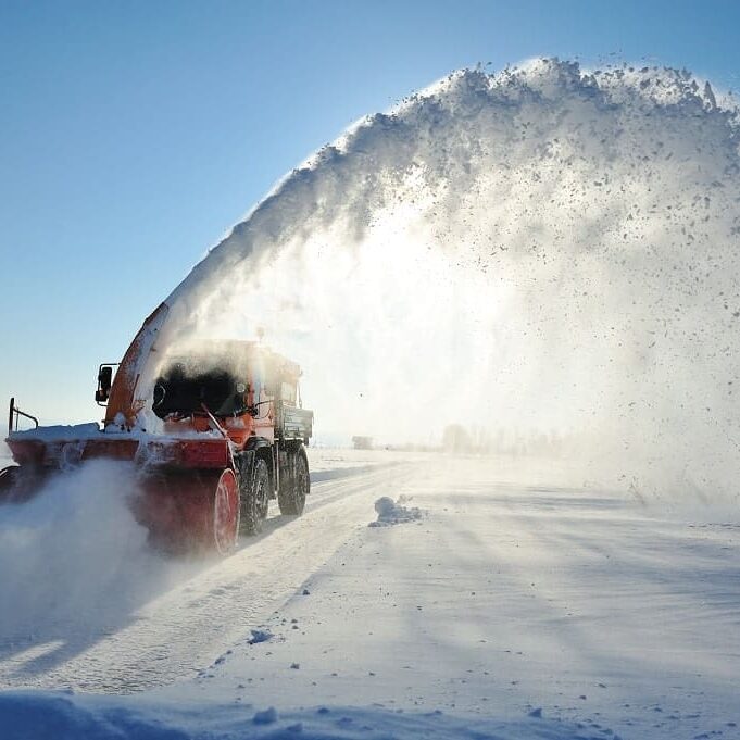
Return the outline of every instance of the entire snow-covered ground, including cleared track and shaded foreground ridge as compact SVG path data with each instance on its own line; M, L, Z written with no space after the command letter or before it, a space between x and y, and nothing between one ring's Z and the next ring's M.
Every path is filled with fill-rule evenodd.
M231 557L139 552L150 591L97 594L126 613L3 636L3 737L740 737L737 511L548 461L312 465L304 516ZM382 496L421 518L367 526Z

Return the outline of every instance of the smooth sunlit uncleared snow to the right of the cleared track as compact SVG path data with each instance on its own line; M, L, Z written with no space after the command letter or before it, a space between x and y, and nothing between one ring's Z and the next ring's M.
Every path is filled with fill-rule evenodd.
M541 710L625 738L740 737L737 513L666 518L559 485L552 465L528 485L519 473L476 460L417 468L397 491L423 520L351 532L309 595L266 623L275 637L242 642L189 695L510 719Z

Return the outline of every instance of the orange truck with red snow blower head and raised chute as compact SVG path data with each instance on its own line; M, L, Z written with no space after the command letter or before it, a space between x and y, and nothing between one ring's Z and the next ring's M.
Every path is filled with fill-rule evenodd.
M134 514L171 551L228 553L240 530L262 529L271 499L281 514L303 512L313 412L301 407L300 367L247 341L161 361L155 342L167 310L163 303L145 322L117 371L100 366L102 428L39 427L11 399L5 441L16 465L0 471L0 503L25 501L54 472L108 459L135 464ZM148 363L156 372L146 385ZM36 428L18 430L21 418Z

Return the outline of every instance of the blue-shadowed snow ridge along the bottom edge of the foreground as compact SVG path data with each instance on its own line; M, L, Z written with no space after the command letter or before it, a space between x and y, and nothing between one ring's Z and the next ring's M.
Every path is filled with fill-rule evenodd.
M443 712L405 713L321 706L277 713L271 707L0 693L3 740L615 740L610 731L581 731L547 717L518 722L460 718Z

